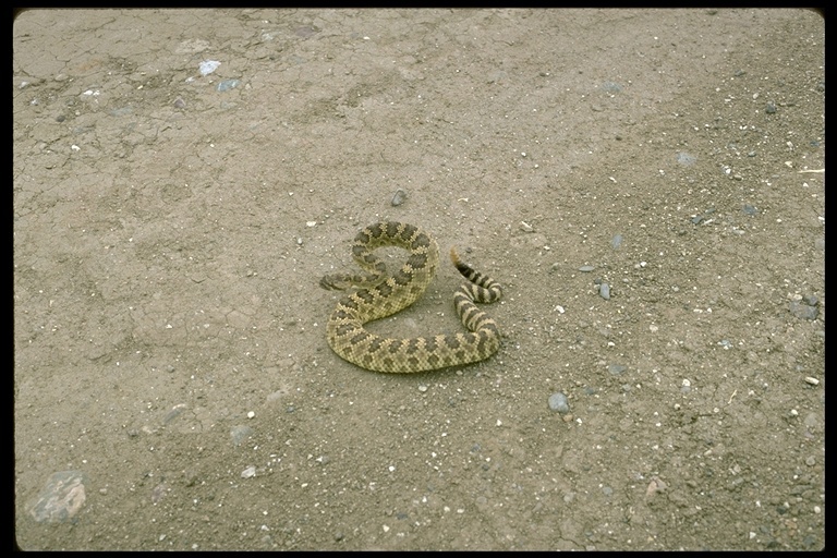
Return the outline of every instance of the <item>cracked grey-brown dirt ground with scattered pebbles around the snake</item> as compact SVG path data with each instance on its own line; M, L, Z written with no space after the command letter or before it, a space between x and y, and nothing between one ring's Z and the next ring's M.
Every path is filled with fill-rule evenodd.
M16 543L822 548L824 39L802 10L19 15ZM498 354L331 352L318 280L380 219L502 283ZM371 329L462 328L459 282Z

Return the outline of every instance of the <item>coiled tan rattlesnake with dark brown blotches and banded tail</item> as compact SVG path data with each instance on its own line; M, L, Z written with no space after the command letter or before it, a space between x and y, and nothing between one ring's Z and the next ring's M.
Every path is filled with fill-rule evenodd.
M384 262L373 254L381 246L405 248L410 257L390 275ZM439 247L426 231L402 222L377 222L357 233L352 255L367 275L327 275L319 281L325 289L357 288L337 303L326 326L328 344L342 359L371 371L409 373L482 361L500 348L497 324L474 301L495 302L502 295L502 289L494 279L461 262L453 248L451 260L469 280L457 290L453 303L469 332L395 339L364 329L365 323L410 306L433 280Z

